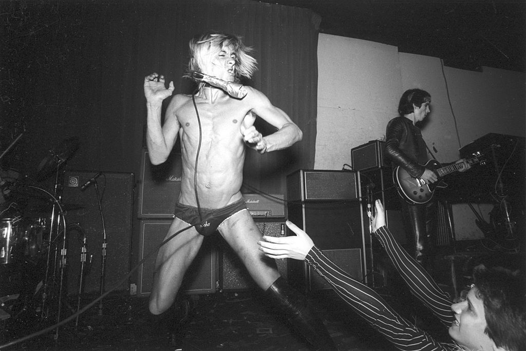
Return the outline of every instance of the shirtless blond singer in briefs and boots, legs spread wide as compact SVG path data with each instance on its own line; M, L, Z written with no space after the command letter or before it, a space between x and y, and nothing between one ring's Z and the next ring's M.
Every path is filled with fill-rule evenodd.
M293 290L276 262L258 250L262 235L240 191L245 147L259 153L281 150L301 140L301 130L262 92L239 84L241 76L250 78L256 70L250 48L239 37L208 33L190 40L189 46L188 76L199 82L199 88L194 95L171 98L162 124L161 105L172 95L174 83L166 88L164 76L157 73L144 80L151 163L165 162L177 137L181 142L181 192L166 238L193 225L159 249L150 312L161 314L174 303L205 236L217 230L292 326L316 349L333 348L305 296ZM256 116L276 132L262 136L254 127Z

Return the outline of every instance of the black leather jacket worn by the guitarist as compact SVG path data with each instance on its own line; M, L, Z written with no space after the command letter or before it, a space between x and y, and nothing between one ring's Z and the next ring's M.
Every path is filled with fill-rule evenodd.
M420 178L426 170L421 166L428 161L426 142L420 128L406 117L396 117L387 123L384 152L393 168L401 166L413 177Z

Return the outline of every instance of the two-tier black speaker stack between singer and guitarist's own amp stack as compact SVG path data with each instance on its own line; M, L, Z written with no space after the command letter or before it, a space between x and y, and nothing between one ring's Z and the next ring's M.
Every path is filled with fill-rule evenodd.
M299 170L287 177L287 211L289 220L305 230L320 250L336 250L348 260L349 274L366 279L359 184L359 173L354 171ZM289 282L300 289L319 285L310 283L305 263L289 262L288 271Z

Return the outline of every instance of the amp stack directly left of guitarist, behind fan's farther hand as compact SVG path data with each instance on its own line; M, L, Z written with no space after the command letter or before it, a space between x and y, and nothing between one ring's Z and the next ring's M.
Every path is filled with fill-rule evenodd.
M371 285L382 287L388 285L390 277L385 265L389 260L377 240L371 240L371 223L367 212L380 199L386 209L386 222L397 241L407 243L403 226L400 200L392 178L391 162L385 157L385 141L372 140L351 149L352 169L360 173L362 191L362 212L365 219L363 227L366 232L366 254L371 267ZM387 268L390 270L390 267Z

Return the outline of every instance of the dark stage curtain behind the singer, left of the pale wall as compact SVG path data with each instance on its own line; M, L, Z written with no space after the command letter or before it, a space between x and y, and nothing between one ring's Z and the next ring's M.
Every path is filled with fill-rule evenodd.
M246 84L264 92L299 125L304 140L260 156L249 150L245 183L285 193L286 175L313 167L320 17L255 1L3 2L2 160L32 173L62 140L79 138L68 169L140 173L146 107L144 76L174 80L188 40L216 30L254 47L259 70ZM258 125L264 133L271 129Z

